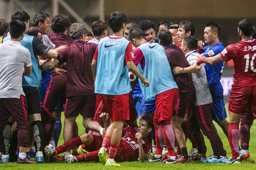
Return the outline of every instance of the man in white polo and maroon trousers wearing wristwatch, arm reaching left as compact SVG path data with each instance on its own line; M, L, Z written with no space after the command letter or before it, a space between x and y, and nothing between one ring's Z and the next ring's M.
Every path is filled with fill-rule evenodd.
M196 51L197 43L198 41L192 36L184 37L181 49L189 62L189 67L176 67L173 72L175 74L192 73L192 81L195 87L195 106L189 125L198 144L198 153L201 153L201 161L210 163L224 162L227 161L227 152L224 150L221 138L212 123L212 96L209 91L205 68L196 64L197 59L200 57L200 54ZM205 155L207 148L201 130L211 142L214 152L214 156L211 159L207 159Z

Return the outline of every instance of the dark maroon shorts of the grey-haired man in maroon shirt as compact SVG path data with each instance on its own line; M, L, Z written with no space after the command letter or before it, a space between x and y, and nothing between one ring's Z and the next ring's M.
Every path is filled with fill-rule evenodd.
M76 117L80 113L83 117L93 118L95 102L95 94L67 97L64 115L65 117Z

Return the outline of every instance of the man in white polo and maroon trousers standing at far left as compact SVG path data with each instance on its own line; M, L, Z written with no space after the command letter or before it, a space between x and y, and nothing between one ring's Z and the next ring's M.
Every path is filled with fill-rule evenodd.
M4 142L6 139L4 139L3 130L11 115L18 129L20 153L17 163L33 163L26 158L29 122L26 98L22 90L22 75L31 73L32 62L29 50L20 44L25 30L24 22L12 20L10 22L11 39L0 45L0 144L3 147L3 163L9 162L9 143Z

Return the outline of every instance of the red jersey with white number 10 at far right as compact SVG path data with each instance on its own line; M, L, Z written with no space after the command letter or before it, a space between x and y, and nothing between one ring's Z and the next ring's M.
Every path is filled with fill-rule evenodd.
M235 86L256 85L256 40L239 41L228 45L221 53L225 62L234 61L234 83Z

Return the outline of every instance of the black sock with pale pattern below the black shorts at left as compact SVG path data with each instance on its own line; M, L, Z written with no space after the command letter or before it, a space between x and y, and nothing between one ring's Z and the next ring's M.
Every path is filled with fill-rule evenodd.
M33 125L33 134L36 143L36 151L44 151L44 127L42 121L35 121Z

